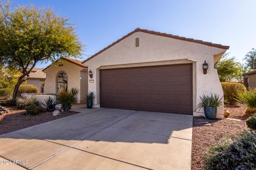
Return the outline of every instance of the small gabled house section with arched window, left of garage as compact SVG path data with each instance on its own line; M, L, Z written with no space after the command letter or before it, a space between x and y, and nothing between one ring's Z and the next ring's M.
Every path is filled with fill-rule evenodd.
M60 90L69 91L76 88L76 102L85 102L85 95L88 93L88 74L87 67L82 61L60 58L43 69L43 72L46 73L44 94L58 94Z

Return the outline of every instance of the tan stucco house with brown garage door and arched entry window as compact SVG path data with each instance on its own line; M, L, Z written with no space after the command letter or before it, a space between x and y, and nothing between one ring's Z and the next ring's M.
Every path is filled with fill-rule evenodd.
M68 88L76 86L84 94L96 95L93 107L204 115L203 109L196 110L199 96L210 92L223 96L214 64L228 48L137 28L87 58L81 63L84 67L69 63L46 68L45 92L57 91L52 83L65 71ZM202 69L205 62L207 73ZM223 109L218 108L217 114L222 118Z

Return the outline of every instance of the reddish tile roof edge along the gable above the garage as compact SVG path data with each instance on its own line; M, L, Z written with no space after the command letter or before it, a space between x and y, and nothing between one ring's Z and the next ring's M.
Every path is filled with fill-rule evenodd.
M123 39L125 39L126 37L129 37L130 35L132 35L135 32L145 32L145 33L150 33L153 35L157 35L157 36L164 36L164 37L169 37L169 38L174 38L174 39L179 39L179 40L184 40L184 41L189 41L192 43L198 43L198 44L203 44L203 45L207 45L207 46L211 46L211 47L217 47L217 48L223 48L223 49L229 49L229 46L223 46L221 44L213 44L210 42L206 42L203 40L198 40L198 39L193 39L193 38L186 38L186 37L180 37L180 36L175 36L172 34L167 34L167 33L163 33L163 32L156 32L156 31L151 31L151 30L145 30L145 29L140 29L137 28L134 31L128 33L126 36L118 39L117 41L115 41L114 43L110 44L109 46L107 46L106 48L103 48L102 50L100 50L98 53L95 53L94 55L92 55L91 57L87 58L85 61L83 61L82 63L85 63L86 61L91 60L91 58L99 55L100 53L102 53L103 51L105 51L106 49L114 46L115 44L119 43L120 41L122 41Z

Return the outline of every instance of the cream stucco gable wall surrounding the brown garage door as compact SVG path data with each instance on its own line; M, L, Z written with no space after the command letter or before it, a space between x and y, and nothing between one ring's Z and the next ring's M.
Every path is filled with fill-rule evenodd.
M139 38L139 47L135 47L135 38ZM94 82L89 82L89 91L95 95L94 107L100 107L99 100L99 70L106 66L127 67L127 64L159 65L168 61L187 60L193 62L194 88L194 115L204 115L203 109L196 111L199 103L199 96L210 92L223 96L223 90L219 81L217 70L214 69L214 55L225 52L225 49L206 46L198 43L191 43L163 36L151 35L144 32L135 32L123 39L116 45L110 47L98 56L84 63L91 69ZM207 74L203 74L202 64L204 61L209 64ZM182 62L181 62L182 63ZM223 117L223 109L218 108L218 117Z

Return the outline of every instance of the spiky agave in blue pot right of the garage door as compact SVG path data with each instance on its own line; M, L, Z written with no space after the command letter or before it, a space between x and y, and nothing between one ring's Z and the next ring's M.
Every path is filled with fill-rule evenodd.
M204 114L206 118L215 119L217 117L217 107L222 107L222 101L219 95L212 94L211 96L200 96L201 102L197 105L197 109L204 107Z

